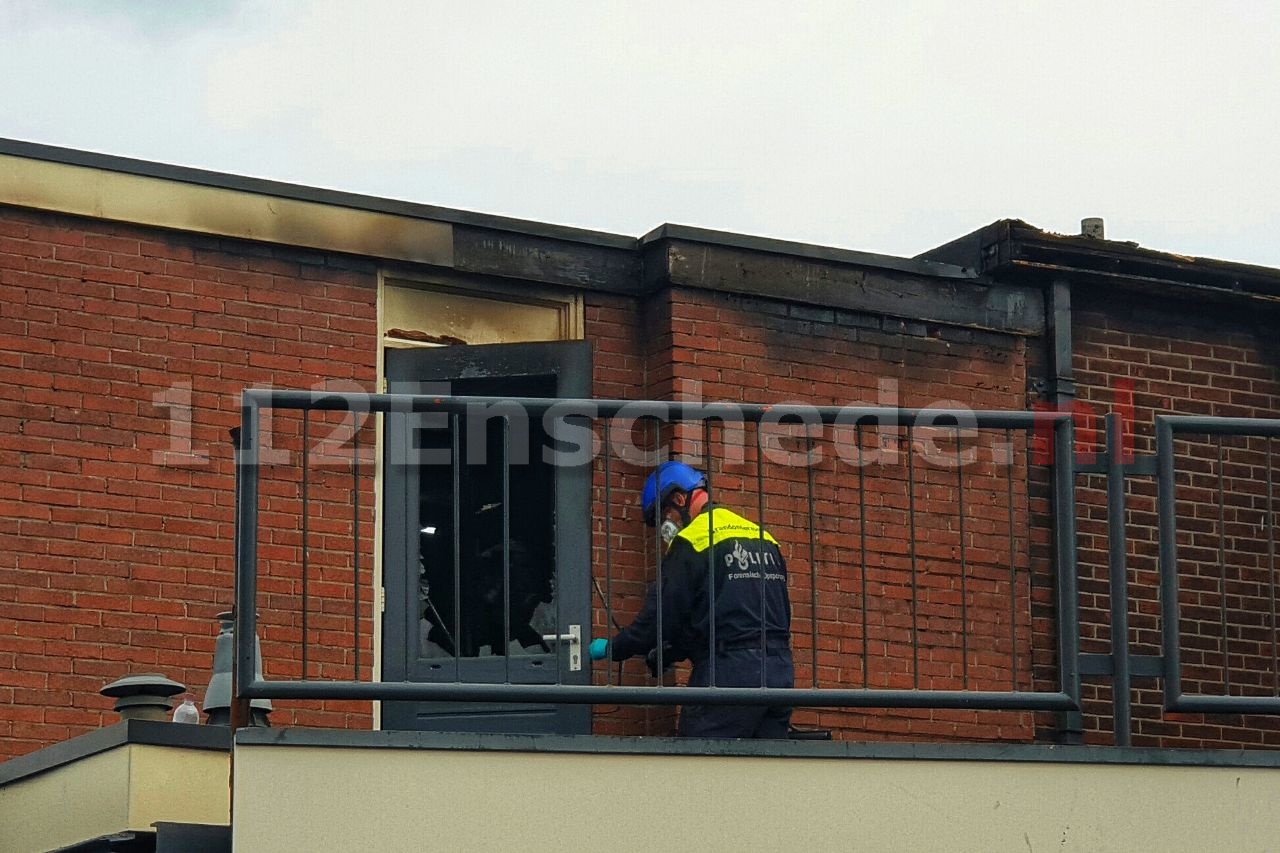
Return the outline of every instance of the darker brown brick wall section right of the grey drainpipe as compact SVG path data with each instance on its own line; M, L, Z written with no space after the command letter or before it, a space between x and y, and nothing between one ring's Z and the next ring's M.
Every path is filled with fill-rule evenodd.
M1100 419L1110 411L1129 418L1138 455L1155 452L1157 414L1275 418L1280 411L1274 316L1087 288L1075 289L1073 304L1078 397ZM1265 514L1268 464L1272 480L1280 482L1277 450L1272 442L1268 456L1257 439L1226 438L1221 451L1208 438L1178 442L1180 648L1188 693L1274 694L1275 587ZM1082 649L1101 653L1110 649L1106 483L1098 475L1080 483ZM1126 496L1132 652L1155 656L1161 625L1153 478L1129 478ZM1280 500L1274 507L1280 508ZM1231 662L1224 666L1228 653ZM1133 684L1137 745L1280 744L1275 717L1164 713L1160 681L1135 678ZM1085 739L1110 743L1110 679L1087 679L1084 695Z

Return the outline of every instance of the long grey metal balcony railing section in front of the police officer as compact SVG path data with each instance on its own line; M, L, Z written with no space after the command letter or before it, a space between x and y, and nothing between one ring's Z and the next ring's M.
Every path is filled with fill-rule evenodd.
M452 459L456 464L452 466L452 485L453 485L453 581L454 589L461 588L461 547L460 547L460 503L458 496L461 493L460 483L460 419L465 412L471 411L474 407L480 407L484 411L485 407L493 403L497 398L490 397L436 397L429 394L349 394L349 393L334 393L334 392L287 392L287 391L269 391L269 389L255 389L244 393L242 405L242 420L243 420L243 434L239 443L241 452L238 453L238 484L242 489L243 498L238 501L237 508L237 553L239 560L237 562L237 617L239 625L237 626L238 640L237 640L237 656L236 665L241 667L238 672L252 672L252 666L246 669L246 657L252 653L252 647L247 644L244 638L252 638L256 629L256 610L253 603L256 602L256 560L257 560L257 493L259 493L259 447L261 444L261 425L259 424L260 410L264 407L276 407L276 409L296 409L303 410L302 418L302 432L303 432L303 446L307 446L307 430L308 430L308 416L310 410L319 411L370 411L370 412L392 412L392 414L407 414L407 412L448 412L449 423L452 426ZM1050 711L1050 710L1078 710L1079 707L1079 674L1076 666L1078 658L1078 602L1075 597L1075 571L1074 571L1074 501L1073 501L1073 484L1071 484L1071 461L1073 461L1073 426L1069 414L1064 412L1009 412L1009 411L940 411L940 410L910 410L910 409L882 409L882 407L809 407L809 406L760 406L760 405L731 405L731 403L717 403L717 405L685 405L678 402L655 402L655 401L611 401L611 400L547 400L547 398L518 398L508 400L503 398L502 402L507 406L522 407L530 415L548 415L548 414L561 414L564 416L581 418L585 411L591 412L595 418L603 419L604 426L604 469L605 469L605 484L604 494L607 507L612 508L612 470L611 470L611 450L608 441L609 438L609 419L612 416L627 415L634 418L645 418L649 420L649 435L652 438L652 446L654 448L659 447L659 421L681 420L682 416L689 415L689 419L701 420L703 425L703 441L705 448L705 456L708 462L712 460L710 451L710 419L718 419L723 424L728 423L751 423L754 424L754 450L755 450L755 484L756 484L756 512L760 519L760 537L764 537L765 529L765 492L764 492L764 471L763 471L763 437L762 437L762 420L764 418L776 418L781 423L786 418L794 415L801 423L809 423L814 416L817 416L820 423L835 424L837 426L852 425L858 444L858 502L859 502L859 542L860 542L860 639L861 639L861 686L858 689L846 688L819 688L818 678L818 587L819 578L817 571L817 524L815 524L815 483L814 483L814 470L812 465L806 466L806 505L808 505L808 517L809 517L809 558L810 558L810 635L813 638L812 643L812 666L813 666L813 688L790 688L790 689L777 689L767 688L767 678L762 671L760 686L759 688L724 688L724 686L709 686L709 688L668 688L663 689L662 680L654 686L627 686L614 685L612 678L608 679L608 684L603 685L604 693L599 693L600 685L582 685L582 684L564 684L563 672L561 670L562 662L561 656L556 656L556 683L554 684L513 684L512 679L512 661L509 651L504 653L503 662L503 684L476 684L476 683L462 683L461 681L461 665L460 658L462 657L457 642L454 642L454 678L453 684L447 683L367 683L361 680L361 666L360 666L360 644L361 644L361 626L360 626L360 551L361 551L361 519L360 519L360 439L358 429L353 433L353 460L352 460L352 492L353 494L353 555L352 555L352 638L355 644L353 651L353 676L351 681L324 681L323 684L311 681L308 684L291 683L291 681L268 681L265 679L248 680L241 679L238 681L238 695L242 698L253 697L301 697L307 698L370 698L370 699L402 699L413 698L420 701L530 701L530 702L563 702L563 703L648 703L648 704L676 704L676 703L689 703L698 702L703 704L754 704L754 703L794 703L800 706L835 706L835 707L936 707L936 708L992 708L992 710L1014 710L1014 711ZM1043 425L1051 425L1053 430L1055 439L1055 456L1053 456L1053 484L1055 484L1055 515L1057 520L1057 548L1056 548L1056 574L1059 576L1059 646L1061 652L1061 688L1056 693L1050 692L1020 692L1016 689L1018 678L1016 672L1012 678L1012 688L1009 692L991 692L991 690L969 690L970 675L969 675L969 639L964 637L961 639L961 683L964 684L963 690L947 690L947 689L927 689L922 690L920 685L923 683L922 678L922 610L920 610L920 596L922 596L922 583L925 580L922 573L925 573L925 566L922 564L922 556L918 548L918 535L919 530L916 528L916 479L918 473L915 470L914 461L914 443L915 433L914 424L922 418L928 418L929 423L938 426L954 426L955 428L955 441L956 441L956 455L957 462L963 457L961 448L961 424L974 424L979 428L1004 428L1006 443L1010 450L1012 447L1012 430L1030 430ZM906 470L906 505L908 505L908 526L909 526L909 565L910 565L910 620L911 620L911 658L913 658L913 674L911 674L911 689L872 689L869 686L869 613L868 613L868 561L867 561L867 542L868 542L868 524L867 524L867 473L863 465L863 426L864 425L877 425L877 426L892 426L899 429L905 429L905 442L908 447L908 470ZM503 598L503 616L502 616L502 637L504 646L509 649L512 643L512 615L511 615L511 601L512 601L512 555L511 555L511 502L512 502L512 487L511 487L511 452L512 452L512 437L511 437L511 416L502 416L502 502L503 502L503 517L502 517L502 539L504 547L502 553L502 598ZM806 453L813 455L813 441L812 435L805 435ZM1011 461L1012 457L1010 457ZM303 514L310 514L310 507L307 505L307 487L310 484L310 475L307 474L307 462L303 462ZM712 473L713 465L707 466L708 476ZM957 465L957 469L960 466ZM1014 537L1014 489L1012 489L1012 474L1007 475L1006 494L1009 501L1009 540L1010 540L1010 639L1011 649L1010 653L1012 660L1016 662L1016 589L1018 589L1018 575L1016 575L1016 551L1015 551L1015 537ZM922 484L922 488L925 488ZM965 629L969 626L968 617L968 542L966 530L964 520L965 508L965 479L963 473L957 473L956 479L956 494L960 503L961 519L960 519L960 625L961 634L965 634ZM406 508L406 517L417 517L412 507ZM713 510L714 512L714 510ZM605 535L607 555L612 553L612 542L608 538L612 534L612 526L609 521L609 511L605 512ZM712 524L714 528L714 521ZM657 556L655 585L658 601L663 601L662 585L663 585L663 571L662 560L664 553L664 543L660 539L660 530L654 528L654 552ZM307 535L303 537L303 560L306 561L306 551L308 546ZM932 557L929 557L932 558ZM710 565L712 553L708 549L708 564L709 569L714 571L714 566ZM605 612L612 624L612 570L613 564L609 557L605 561L608 580L609 580L609 593L607 596ZM763 574L763 565L762 565ZM714 578L714 575L713 575ZM936 579L929 579L928 583L933 585ZM461 624L460 612L460 594L453 596L453 617L454 626ZM712 625L712 643L710 649L716 649L714 638L714 601L708 602L712 608L708 613L709 622ZM559 624L559 607L561 601L556 601L556 613L557 624ZM765 597L764 585L760 584L760 612L765 611ZM306 611L308 608L307 596L303 596L303 620L306 620ZM931 611L932 612L932 611ZM663 637L663 607L657 608L655 615L658 622L658 635ZM931 616L932 619L932 616ZM303 631L303 643L307 642L307 631ZM768 646L768 631L767 625L762 620L760 624L760 649L765 651ZM248 649L248 651L246 651ZM657 654L657 667L658 671L663 671L666 667L666 661L663 656L667 649L659 643ZM716 684L714 676L714 653L710 654L710 666L713 671L710 674L710 684ZM932 678L932 676L931 676ZM308 674L303 671L303 680L308 680ZM301 690L301 693L300 693ZM666 694L666 695L664 695ZM527 697L522 699L521 697ZM663 698L659 698L663 697Z

